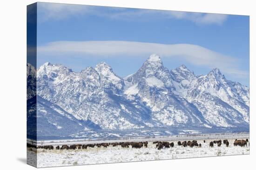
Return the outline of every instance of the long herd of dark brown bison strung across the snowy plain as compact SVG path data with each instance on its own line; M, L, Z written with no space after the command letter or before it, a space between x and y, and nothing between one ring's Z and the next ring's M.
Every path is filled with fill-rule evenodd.
M206 143L205 140L203 140L203 143ZM249 143L249 140L235 140L234 142L234 146L247 146L247 143ZM173 142L167 142L167 141L154 141L153 144L156 144L155 147L158 150L164 149L164 148L170 148L170 147L174 147L174 143ZM222 145L222 140L214 140L211 141L209 143L209 147L214 147L214 144L216 144L218 147L220 147ZM177 142L178 146L183 146L183 147L202 147L201 143L197 143L196 140L192 140L192 141L178 141ZM229 141L227 139L223 140L223 145L226 145L226 147L229 147ZM80 150L80 149L87 149L87 148L108 148L109 146L112 147L116 147L116 146L121 146L122 148L147 148L148 147L148 141L145 142L114 142L114 143L99 143L99 144L87 144L87 145L81 145L81 144L77 144L77 145L62 145L62 146L56 146L55 149L56 150ZM35 145L31 145L31 144L27 144L27 147L29 148L35 148L35 149L46 149L46 150L53 150L54 146L53 145L45 145L45 146L35 146Z

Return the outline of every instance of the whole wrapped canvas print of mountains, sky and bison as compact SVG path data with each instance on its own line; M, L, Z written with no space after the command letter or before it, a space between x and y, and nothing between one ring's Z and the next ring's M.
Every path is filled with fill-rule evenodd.
M249 154L249 16L27 6L27 164Z

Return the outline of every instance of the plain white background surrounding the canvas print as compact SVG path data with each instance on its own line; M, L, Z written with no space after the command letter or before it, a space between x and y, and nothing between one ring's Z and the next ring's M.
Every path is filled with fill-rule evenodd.
M250 15L250 155L58 167L54 170L255 169L256 9L254 0L45 0L101 6ZM26 9L34 0L0 3L0 169L34 169L26 164ZM146 3L145 3L146 2ZM254 78L253 78L254 77ZM254 158L253 158L254 157ZM48 170L49 168L46 168Z

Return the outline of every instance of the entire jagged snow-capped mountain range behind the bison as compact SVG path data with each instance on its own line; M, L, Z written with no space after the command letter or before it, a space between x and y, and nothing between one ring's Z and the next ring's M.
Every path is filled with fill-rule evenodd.
M102 62L79 73L44 63L29 80L36 79L39 136L249 131L249 88L219 69L196 76L184 65L168 70L151 55L124 78Z

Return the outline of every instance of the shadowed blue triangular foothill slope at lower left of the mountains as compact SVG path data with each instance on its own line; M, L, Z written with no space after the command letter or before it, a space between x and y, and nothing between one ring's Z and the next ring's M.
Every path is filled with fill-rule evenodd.
M65 136L81 131L89 131L84 121L79 121L73 115L67 113L61 107L41 98L37 98L37 103L30 103L27 106L27 119L31 120L34 116L33 110L37 106L36 112L36 127L37 136ZM33 118L32 118L33 119ZM33 129L33 126L28 124L28 129ZM30 132L30 130L28 132Z

